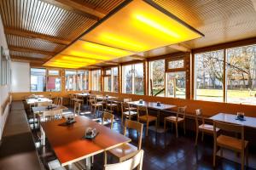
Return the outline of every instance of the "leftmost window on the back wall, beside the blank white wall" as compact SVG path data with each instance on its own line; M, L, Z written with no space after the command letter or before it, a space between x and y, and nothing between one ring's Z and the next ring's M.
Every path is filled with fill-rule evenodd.
M31 92L45 92L46 70L31 68Z

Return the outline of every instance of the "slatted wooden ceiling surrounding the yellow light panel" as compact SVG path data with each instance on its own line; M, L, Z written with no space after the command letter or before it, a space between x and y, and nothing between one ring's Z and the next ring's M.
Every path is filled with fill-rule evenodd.
M183 42L181 45L186 48L256 37L253 0L153 1L205 35L201 39ZM10 53L19 57L48 59L52 56L42 54L42 51L58 54L122 2L124 0L1 0L0 14L9 47L12 47ZM19 51L21 48L25 50ZM34 50L28 53L29 49ZM146 58L177 51L179 49L166 47L138 55ZM134 59L126 57L113 61Z

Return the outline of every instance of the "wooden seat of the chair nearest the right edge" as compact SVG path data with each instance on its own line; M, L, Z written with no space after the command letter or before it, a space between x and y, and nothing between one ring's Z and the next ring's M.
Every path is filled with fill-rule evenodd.
M245 149L248 144L247 140L245 140L244 142L245 142L245 147L243 149ZM224 147L230 150L242 150L241 139L236 139L223 134L218 136L217 144L220 145L221 147Z

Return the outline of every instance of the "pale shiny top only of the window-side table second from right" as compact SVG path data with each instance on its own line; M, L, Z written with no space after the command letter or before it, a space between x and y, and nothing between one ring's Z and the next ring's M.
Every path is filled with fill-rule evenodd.
M128 103L131 105L145 106L145 107L155 109L155 110L160 110L160 111L177 107L177 105L167 105L167 104L160 104L160 106L158 106L157 102L148 102L148 101L143 101L142 104L139 101L131 101Z

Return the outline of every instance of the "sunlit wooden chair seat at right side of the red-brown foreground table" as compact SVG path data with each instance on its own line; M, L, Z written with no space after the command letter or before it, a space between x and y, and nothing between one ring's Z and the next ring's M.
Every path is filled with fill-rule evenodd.
M126 143L126 144L122 144L122 145L115 147L108 151L111 154L113 154L113 156L116 156L119 158L127 156L127 159L128 159L130 156L133 156L133 154L137 153L137 147L135 145Z

